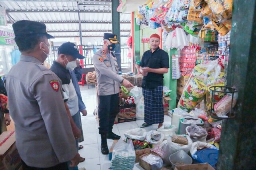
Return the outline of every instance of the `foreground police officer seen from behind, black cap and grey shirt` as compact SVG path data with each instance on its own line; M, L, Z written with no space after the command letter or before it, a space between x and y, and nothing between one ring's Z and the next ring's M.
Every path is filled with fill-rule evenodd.
M44 23L22 20L12 25L22 53L6 76L9 111L24 170L77 166L80 155L62 98L62 82L42 65L50 53Z

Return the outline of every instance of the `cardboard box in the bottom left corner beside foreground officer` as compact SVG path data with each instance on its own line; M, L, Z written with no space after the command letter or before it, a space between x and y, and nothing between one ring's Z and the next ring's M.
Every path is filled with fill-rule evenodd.
M22 169L21 158L15 145L15 132L0 135L0 170Z

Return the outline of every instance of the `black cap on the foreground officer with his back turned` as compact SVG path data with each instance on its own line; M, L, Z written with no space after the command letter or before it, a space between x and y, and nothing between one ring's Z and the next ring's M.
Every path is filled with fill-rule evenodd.
M46 32L46 26L41 22L21 20L12 24L12 28L15 36L45 34L48 39L54 38Z

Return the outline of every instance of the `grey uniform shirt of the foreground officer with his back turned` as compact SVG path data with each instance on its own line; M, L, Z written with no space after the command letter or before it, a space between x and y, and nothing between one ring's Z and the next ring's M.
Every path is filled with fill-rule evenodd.
M58 76L30 56L21 56L6 76L9 111L22 160L46 168L74 158L76 142Z

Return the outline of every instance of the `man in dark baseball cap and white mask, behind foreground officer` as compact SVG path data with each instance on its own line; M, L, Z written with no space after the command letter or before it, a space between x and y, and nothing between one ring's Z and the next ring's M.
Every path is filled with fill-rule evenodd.
M79 54L77 46L74 43L63 43L58 48L58 58L53 62L51 70L60 78L62 81L62 89L64 102L68 115L72 116L73 122L71 126L73 129L79 129L76 131L76 148L78 150L78 138L81 136L81 123L80 123L80 111L78 108L78 97L76 90L72 83L72 76L70 70L74 70L77 67L76 59L84 59L85 57ZM71 169L71 168L69 168ZM74 168L77 169L77 168Z

